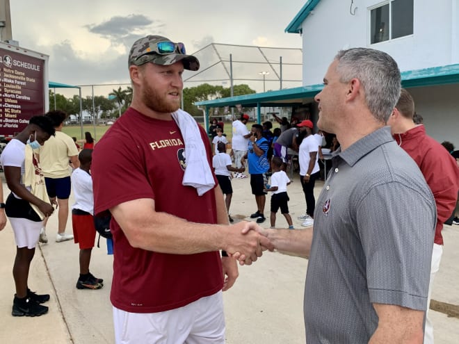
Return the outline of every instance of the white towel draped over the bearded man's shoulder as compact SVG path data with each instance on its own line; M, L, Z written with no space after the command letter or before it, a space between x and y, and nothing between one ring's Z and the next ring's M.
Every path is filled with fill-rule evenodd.
M185 143L186 168L182 184L193 186L198 195L202 196L214 188L215 182L198 123L189 113L181 109L172 113L172 118L179 126Z

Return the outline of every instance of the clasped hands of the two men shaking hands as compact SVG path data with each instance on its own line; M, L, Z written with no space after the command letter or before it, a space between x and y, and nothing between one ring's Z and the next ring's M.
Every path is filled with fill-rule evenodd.
M225 249L227 254L239 261L240 265L250 265L274 245L267 237L267 232L255 222L239 222L231 226L230 244Z

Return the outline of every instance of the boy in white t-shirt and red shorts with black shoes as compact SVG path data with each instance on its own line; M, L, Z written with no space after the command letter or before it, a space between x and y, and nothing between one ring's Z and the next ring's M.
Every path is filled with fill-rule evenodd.
M75 203L72 206L72 227L74 242L80 247L80 277L77 289L100 289L104 286L103 279L94 277L89 272L91 251L94 247L96 230L94 227L94 196L92 195L92 179L90 167L92 149L83 149L78 156L80 167L72 173Z

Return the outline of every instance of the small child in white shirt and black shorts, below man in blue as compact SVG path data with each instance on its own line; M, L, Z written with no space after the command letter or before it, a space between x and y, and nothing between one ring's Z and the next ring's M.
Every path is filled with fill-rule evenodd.
M273 171L271 175L271 187L266 189L266 191L273 193L271 196L271 228L275 228L275 214L280 208L280 212L289 224L289 229L294 229L289 214L289 195L287 195L287 185L291 183L291 180L287 176L287 173L281 170L281 167L282 158L273 156L271 159L271 170Z

